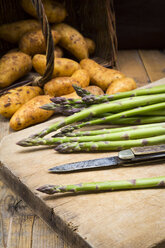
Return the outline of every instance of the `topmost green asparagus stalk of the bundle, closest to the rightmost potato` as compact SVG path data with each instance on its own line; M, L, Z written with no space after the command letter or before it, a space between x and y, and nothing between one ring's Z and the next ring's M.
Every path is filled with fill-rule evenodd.
M114 95L101 95L101 96L87 95L84 96L82 100L86 104L96 104L96 103L103 103L103 102L123 99L127 97L161 94L161 93L165 93L165 85L154 86L152 88L147 88L147 89L137 89L127 92L121 92L121 93L116 93Z

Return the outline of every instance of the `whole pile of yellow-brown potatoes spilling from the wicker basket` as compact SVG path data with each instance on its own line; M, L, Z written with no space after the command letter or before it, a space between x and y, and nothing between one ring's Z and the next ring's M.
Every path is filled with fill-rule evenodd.
M64 22L67 10L62 4L54 0L42 2L55 45L54 71L52 79L43 89L38 86L21 86L0 97L0 114L10 118L10 127L16 131L50 118L54 111L40 107L51 102L52 96L79 98L73 84L95 95L115 94L136 88L132 78L89 59L95 51L95 43ZM31 1L21 0L21 6L33 18L37 17ZM21 80L32 69L41 76L44 74L46 46L40 23L36 19L1 25L0 39L17 47L0 59L0 89ZM75 59L64 58L65 51Z

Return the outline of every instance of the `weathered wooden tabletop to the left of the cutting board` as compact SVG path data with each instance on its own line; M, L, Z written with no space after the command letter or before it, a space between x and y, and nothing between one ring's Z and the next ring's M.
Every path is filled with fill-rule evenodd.
M0 140L12 131L0 116ZM15 195L0 175L0 247L71 248Z

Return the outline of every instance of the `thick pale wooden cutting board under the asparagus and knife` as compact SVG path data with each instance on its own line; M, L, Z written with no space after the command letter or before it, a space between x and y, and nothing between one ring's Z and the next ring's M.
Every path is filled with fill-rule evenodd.
M159 80L157 83L164 83ZM151 84L150 84L151 85ZM58 120L59 118L56 118ZM55 120L6 136L0 145L0 173L7 185L73 247L149 248L165 240L164 189L47 196L44 184L133 179L165 175L165 164L112 170L50 174L48 168L116 153L58 154L44 147L22 148L16 142Z

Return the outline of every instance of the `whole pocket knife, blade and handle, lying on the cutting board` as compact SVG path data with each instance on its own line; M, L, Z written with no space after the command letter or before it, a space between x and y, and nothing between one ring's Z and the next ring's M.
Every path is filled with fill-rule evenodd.
M49 169L51 173L66 173L81 170L136 166L165 160L165 145L134 147L123 150L118 156L67 163Z

